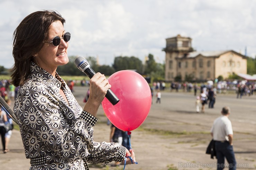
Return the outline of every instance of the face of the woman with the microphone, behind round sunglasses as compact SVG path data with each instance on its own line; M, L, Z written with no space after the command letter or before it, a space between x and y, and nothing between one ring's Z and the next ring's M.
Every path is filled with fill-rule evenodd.
M51 42L56 36L63 37L65 32L61 21L53 22L49 29L49 37L46 41ZM68 63L67 47L68 42L65 42L63 39L61 39L58 46L46 42L42 49L36 54L35 63L50 74L55 74L57 66Z

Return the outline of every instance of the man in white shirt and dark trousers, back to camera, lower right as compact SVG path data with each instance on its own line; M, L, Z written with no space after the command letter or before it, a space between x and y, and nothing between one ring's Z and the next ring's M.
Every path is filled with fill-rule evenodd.
M211 135L215 141L215 150L217 156L217 170L225 168L225 157L229 163L229 170L236 169L236 159L233 150L233 130L228 116L230 108L223 107L222 116L213 122ZM226 166L227 167L227 166Z

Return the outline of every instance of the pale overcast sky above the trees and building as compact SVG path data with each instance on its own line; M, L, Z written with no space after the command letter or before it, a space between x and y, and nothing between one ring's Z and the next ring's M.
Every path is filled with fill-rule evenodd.
M256 55L255 0L0 0L0 66L13 63L13 31L28 14L56 10L71 33L68 56L117 56L163 63L166 38L192 38L197 51L234 50Z

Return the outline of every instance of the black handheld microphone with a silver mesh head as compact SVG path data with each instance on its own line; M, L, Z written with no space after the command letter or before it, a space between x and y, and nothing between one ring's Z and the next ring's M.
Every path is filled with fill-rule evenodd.
M75 65L76 67L81 70L82 72L84 72L90 79L94 76L94 74L96 74L93 69L90 67L90 64L88 63L88 61L83 58L83 57L77 57L75 59ZM107 94L105 96L111 104L115 105L119 102L118 97L116 96L115 93L113 93L113 91L111 89L108 89Z

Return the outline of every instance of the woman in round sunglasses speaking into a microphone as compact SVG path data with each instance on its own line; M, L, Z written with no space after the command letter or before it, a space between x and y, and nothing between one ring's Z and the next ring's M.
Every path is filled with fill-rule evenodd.
M14 112L30 170L87 170L87 163L124 164L126 156L135 161L132 150L93 141L95 116L111 87L106 77L101 73L92 77L90 97L82 109L57 74L57 66L68 63L70 33L64 23L55 11L37 11L25 17L13 34L12 83L20 86Z

